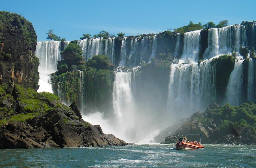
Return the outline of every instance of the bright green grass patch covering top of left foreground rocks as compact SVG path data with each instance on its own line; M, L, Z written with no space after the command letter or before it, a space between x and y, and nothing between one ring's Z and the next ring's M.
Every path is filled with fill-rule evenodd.
M57 107L65 108L63 104L59 103L58 96L54 94L38 93L34 89L17 84L13 89L12 94L7 94L8 89L0 85L0 125L6 124L8 121L25 122L37 115L56 110Z

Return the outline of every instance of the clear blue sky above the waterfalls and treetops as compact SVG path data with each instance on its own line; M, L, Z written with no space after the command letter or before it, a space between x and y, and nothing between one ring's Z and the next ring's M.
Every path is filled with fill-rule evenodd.
M32 22L38 41L45 33L66 40L101 30L126 36L159 33L208 21L227 19L229 25L256 20L256 0L0 0L0 10L21 14Z

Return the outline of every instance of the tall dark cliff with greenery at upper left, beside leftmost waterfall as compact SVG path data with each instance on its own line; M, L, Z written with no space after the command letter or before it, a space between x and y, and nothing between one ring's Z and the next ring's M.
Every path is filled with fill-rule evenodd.
M0 84L38 89L37 35L24 17L0 12Z

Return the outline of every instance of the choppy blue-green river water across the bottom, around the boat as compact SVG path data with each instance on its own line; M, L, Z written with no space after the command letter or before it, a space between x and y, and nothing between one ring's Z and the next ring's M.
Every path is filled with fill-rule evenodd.
M0 150L0 167L256 167L256 146L205 145L203 150L174 144L98 148Z

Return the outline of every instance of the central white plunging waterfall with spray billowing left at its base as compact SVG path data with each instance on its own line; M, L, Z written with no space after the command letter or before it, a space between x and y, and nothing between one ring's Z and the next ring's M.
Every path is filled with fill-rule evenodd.
M132 94L133 72L115 72L114 90L113 90L113 108L114 117L104 119L103 114L95 112L84 118L92 124L100 124L104 132L112 133L115 136L131 141L129 129L134 127L134 98ZM98 118L95 121L95 117Z

